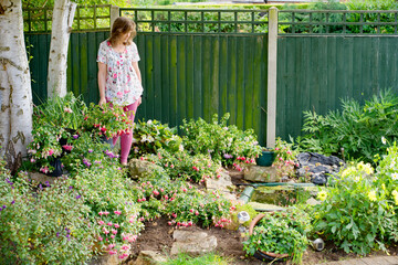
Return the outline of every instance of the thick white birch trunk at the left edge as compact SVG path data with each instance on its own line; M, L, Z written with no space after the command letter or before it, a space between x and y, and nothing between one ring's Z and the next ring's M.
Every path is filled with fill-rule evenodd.
M32 131L32 91L21 0L0 0L0 156L11 171L27 155Z

